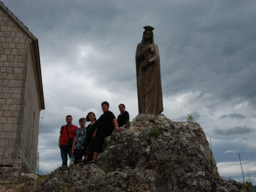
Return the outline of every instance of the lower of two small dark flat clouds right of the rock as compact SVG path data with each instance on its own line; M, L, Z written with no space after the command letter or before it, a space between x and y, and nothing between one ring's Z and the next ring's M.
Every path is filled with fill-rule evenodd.
M254 130L250 129L249 127L247 126L244 126L244 127L241 127L241 126L236 126L236 127L229 127L227 129L219 129L219 128L216 128L213 130L213 132L216 134L216 135L224 135L224 136L230 136L230 135L236 135L236 134L250 134L250 133L253 133Z

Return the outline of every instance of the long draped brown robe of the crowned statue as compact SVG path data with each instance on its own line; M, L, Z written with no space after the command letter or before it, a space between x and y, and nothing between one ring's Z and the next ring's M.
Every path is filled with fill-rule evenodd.
M141 51L146 47L153 48L148 59L153 60L142 70L145 58ZM163 112L163 98L160 72L160 57L158 46L154 44L138 44L136 50L136 73L139 113L161 114Z

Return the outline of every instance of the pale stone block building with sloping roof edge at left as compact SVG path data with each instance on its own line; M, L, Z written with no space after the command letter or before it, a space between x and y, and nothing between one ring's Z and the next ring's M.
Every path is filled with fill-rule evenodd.
M36 173L44 109L38 40L0 1L0 183Z

